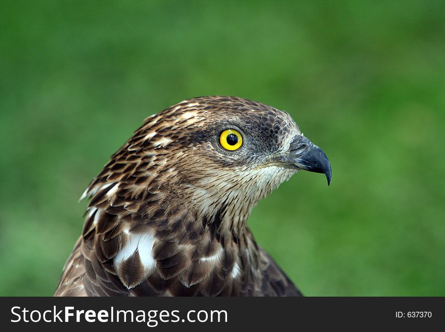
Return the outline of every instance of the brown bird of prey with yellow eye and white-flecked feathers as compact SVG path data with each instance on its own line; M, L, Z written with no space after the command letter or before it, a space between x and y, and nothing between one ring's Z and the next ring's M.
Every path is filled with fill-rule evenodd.
M247 226L299 170L331 166L289 114L224 96L150 116L90 183L55 296L301 296Z

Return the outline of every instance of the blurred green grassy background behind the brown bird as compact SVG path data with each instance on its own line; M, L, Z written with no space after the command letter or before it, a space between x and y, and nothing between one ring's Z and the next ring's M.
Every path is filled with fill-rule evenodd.
M50 296L90 180L142 120L228 94L333 169L249 220L307 296L445 296L445 2L2 1L0 295Z

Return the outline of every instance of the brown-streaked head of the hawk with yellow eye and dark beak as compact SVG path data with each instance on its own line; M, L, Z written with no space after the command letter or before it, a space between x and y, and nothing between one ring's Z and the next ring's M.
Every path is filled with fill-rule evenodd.
M289 114L241 98L200 97L147 118L87 194L112 182L111 205L125 201L148 217L160 207L166 215L193 210L239 231L253 206L299 170L324 173L330 183L328 158Z

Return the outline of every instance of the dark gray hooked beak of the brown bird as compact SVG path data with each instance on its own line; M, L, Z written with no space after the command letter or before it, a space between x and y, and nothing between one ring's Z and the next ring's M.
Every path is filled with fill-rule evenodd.
M289 148L288 162L299 169L326 175L328 185L331 183L331 164L328 157L318 146L304 136L297 135Z

